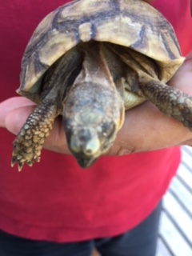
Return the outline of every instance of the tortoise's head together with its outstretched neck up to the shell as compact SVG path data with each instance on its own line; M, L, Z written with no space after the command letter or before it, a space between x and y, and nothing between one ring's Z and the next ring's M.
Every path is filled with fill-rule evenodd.
M124 121L124 104L97 44L85 50L62 116L68 146L82 168L113 145Z

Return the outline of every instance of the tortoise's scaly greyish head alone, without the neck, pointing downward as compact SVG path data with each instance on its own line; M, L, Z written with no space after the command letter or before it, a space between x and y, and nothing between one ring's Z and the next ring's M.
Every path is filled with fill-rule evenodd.
M114 87L82 82L67 95L63 125L70 151L87 168L114 143L124 121L122 98Z

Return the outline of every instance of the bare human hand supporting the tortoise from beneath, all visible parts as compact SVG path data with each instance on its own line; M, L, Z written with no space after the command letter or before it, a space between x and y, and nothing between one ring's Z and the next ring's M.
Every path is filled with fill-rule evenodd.
M192 53L170 80L169 85L192 95L191 83ZM0 126L18 134L34 106L34 103L26 98L7 99L0 104ZM70 154L61 121L61 117L55 120L54 129L46 138L44 148ZM145 102L126 111L125 123L108 154L130 154L184 144L192 145L192 132L174 119L167 118L152 103Z

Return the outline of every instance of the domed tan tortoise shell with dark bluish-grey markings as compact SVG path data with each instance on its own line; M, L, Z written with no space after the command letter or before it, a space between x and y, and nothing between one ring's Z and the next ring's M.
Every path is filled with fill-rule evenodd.
M18 93L35 101L42 75L79 42L111 42L153 58L167 82L184 61L173 28L142 0L76 0L42 20L22 58Z

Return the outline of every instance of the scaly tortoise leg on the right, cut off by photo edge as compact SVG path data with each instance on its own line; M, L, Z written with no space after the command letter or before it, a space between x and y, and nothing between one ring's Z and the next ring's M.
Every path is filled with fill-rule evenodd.
M164 114L192 130L192 97L158 80L140 84L142 93Z

